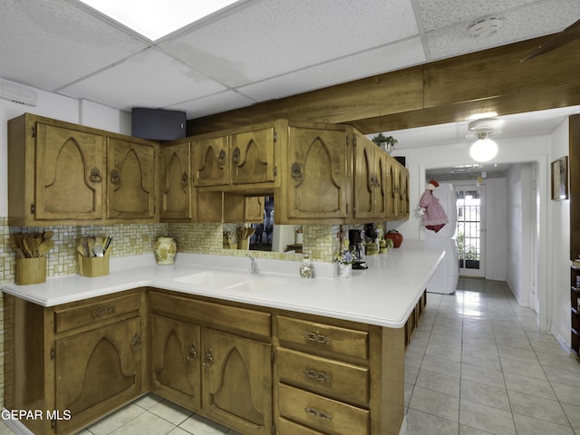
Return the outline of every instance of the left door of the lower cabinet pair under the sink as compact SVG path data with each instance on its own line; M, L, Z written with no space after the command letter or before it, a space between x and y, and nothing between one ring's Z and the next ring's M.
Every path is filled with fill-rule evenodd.
M201 407L199 326L150 316L150 389L190 410Z

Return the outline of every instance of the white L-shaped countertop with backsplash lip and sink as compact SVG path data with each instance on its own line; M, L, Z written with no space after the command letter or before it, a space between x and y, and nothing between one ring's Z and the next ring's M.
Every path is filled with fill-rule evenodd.
M369 268L353 270L351 278L330 277L335 265L314 262L314 279L304 279L298 275L300 262L258 259L260 274L251 275L249 259L245 257L178 254L175 265L158 266L151 254L113 258L111 274L107 276L67 275L48 278L37 285L4 285L3 291L34 304L53 306L151 286L400 328L443 256L440 249L424 247L417 240L406 240L390 254L367 256ZM215 271L219 276L235 274L247 284L222 288L179 281L184 276L207 271Z

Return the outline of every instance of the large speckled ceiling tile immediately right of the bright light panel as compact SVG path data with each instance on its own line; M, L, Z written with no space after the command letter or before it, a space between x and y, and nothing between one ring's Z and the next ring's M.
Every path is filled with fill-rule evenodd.
M268 0L160 43L230 87L418 34L408 0Z

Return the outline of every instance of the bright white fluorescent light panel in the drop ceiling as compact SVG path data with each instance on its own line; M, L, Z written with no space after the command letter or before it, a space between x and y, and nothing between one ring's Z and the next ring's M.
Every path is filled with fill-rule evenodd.
M213 14L237 0L81 0L151 41Z

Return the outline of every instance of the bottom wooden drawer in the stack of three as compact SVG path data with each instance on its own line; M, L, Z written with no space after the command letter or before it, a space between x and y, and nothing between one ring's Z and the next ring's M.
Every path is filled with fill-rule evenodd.
M335 435L368 435L369 411L280 384L280 416ZM307 433L307 432L306 432Z

